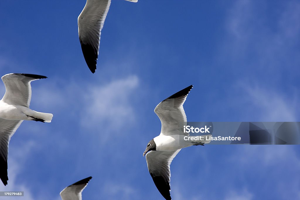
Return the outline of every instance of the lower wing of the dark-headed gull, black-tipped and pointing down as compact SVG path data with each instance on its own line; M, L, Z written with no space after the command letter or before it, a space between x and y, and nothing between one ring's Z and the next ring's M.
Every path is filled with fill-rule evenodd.
M147 166L153 182L161 195L167 200L171 199L170 164L180 150L149 151L146 154Z

